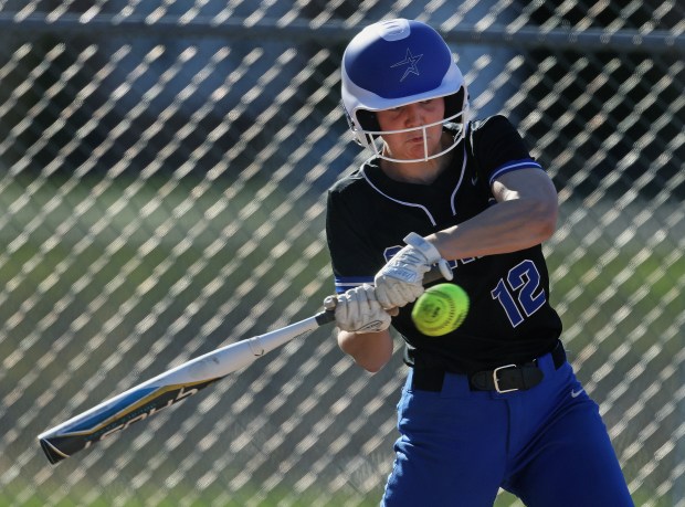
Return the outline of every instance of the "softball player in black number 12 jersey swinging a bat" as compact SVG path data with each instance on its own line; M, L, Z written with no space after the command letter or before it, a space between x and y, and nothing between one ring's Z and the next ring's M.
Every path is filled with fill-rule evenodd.
M338 344L377 371L392 324L411 367L382 505L485 506L499 487L529 506L632 505L559 341L540 245L556 226L550 178L505 117L468 118L462 73L426 24L366 28L341 73L351 130L372 156L328 193ZM445 260L471 310L426 337L411 307Z

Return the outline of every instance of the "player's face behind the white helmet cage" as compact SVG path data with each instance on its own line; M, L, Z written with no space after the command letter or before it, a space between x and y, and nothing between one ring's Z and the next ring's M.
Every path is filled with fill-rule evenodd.
M382 136L386 155L396 159L415 160L438 154L441 150L444 115L445 102L442 97L377 112L381 130L404 130ZM432 126L421 128L425 125Z

